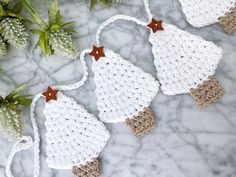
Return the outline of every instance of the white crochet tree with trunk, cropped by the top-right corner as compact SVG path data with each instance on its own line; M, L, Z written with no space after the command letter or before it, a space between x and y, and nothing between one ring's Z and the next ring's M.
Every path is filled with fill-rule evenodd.
M236 0L179 0L188 22L203 27L219 22L224 30L236 30Z

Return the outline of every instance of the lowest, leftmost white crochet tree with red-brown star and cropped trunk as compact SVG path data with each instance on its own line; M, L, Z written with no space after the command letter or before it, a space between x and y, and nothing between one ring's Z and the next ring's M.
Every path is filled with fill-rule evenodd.
M73 169L76 177L99 176L95 159L109 139L104 124L59 91L50 88L43 95L47 98L43 112L46 116L48 166Z

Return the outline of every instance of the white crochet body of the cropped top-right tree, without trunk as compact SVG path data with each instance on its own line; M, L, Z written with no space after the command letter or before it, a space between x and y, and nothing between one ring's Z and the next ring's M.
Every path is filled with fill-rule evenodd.
M234 7L236 0L179 0L188 22L203 27L218 22L219 17Z

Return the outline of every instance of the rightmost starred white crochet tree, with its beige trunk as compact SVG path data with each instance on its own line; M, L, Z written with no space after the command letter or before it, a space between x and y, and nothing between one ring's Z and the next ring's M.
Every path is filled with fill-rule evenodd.
M222 57L222 49L176 26L161 21L158 24L163 29L154 32L151 28L149 40L163 92L167 95L190 92L199 106L218 100L224 90L212 76Z

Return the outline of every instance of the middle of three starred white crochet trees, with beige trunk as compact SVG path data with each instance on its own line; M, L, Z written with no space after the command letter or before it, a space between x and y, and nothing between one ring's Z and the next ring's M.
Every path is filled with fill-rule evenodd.
M126 121L136 136L150 132L155 121L148 107L159 83L111 50L94 46L90 55L96 59L92 70L100 119L107 123Z

